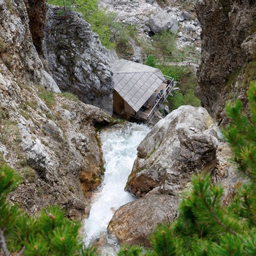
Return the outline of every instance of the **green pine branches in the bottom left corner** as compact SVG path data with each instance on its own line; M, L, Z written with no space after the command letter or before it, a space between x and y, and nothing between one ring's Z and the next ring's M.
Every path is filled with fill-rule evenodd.
M49 206L38 218L13 206L7 196L19 182L15 171L1 162L0 248L4 255L97 255L94 248L83 246L78 233L80 224L65 218L59 206Z

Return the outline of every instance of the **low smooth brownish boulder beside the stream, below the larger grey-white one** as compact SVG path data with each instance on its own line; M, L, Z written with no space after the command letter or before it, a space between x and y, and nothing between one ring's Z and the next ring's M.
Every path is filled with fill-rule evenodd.
M120 244L149 246L148 237L159 223L177 217L179 199L170 195L151 195L118 208L108 225Z

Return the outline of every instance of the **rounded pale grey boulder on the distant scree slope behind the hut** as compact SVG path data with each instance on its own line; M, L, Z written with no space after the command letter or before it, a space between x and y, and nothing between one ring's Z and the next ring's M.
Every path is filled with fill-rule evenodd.
M178 21L168 12L154 12L149 18L149 26L154 33L170 30L173 34L178 32Z

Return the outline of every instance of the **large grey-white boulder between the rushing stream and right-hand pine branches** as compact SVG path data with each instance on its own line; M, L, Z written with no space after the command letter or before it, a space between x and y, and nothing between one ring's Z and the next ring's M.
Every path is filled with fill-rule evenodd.
M217 165L218 135L205 108L181 106L160 120L138 146L126 190L143 197L156 187L177 195L192 173Z

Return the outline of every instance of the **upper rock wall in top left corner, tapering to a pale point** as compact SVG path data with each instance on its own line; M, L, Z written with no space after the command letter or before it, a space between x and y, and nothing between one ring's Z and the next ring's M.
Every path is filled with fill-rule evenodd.
M18 83L41 84L60 92L53 79L49 79L33 45L24 1L0 1L0 17L1 74Z

